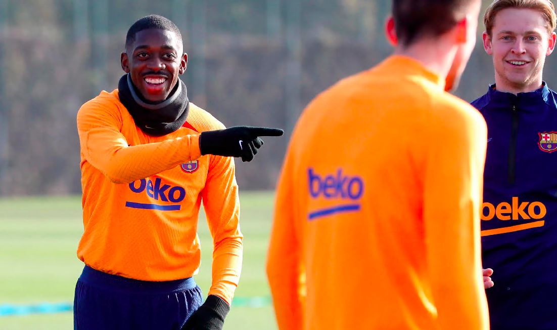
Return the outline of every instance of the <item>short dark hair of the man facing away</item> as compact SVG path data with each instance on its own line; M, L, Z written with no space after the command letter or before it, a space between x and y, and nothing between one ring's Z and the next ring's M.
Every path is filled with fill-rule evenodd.
M437 37L461 20L477 0L393 0L398 41L409 46L423 36Z

